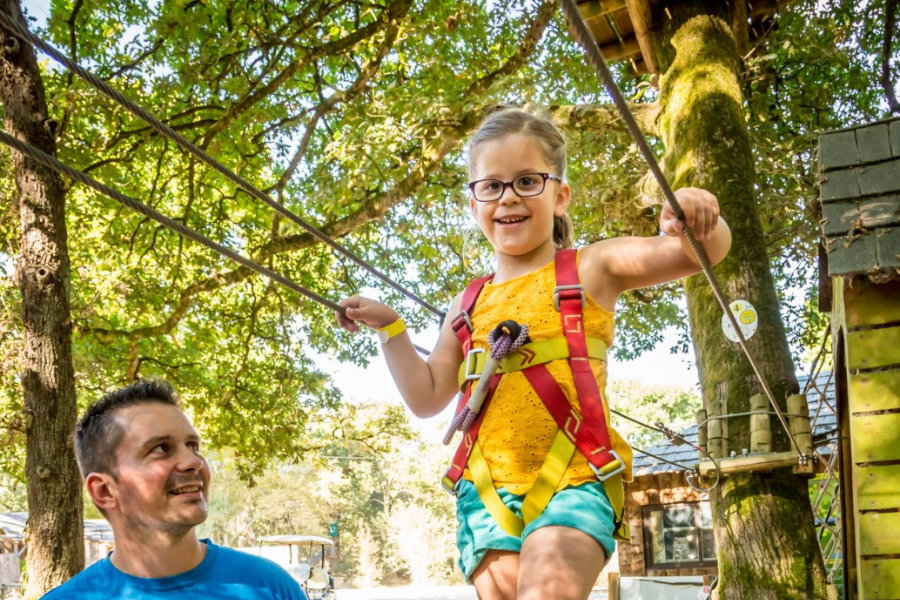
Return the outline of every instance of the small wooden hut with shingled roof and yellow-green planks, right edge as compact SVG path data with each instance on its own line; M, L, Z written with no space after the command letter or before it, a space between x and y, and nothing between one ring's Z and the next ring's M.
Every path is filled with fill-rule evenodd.
M900 119L819 137L848 599L900 598Z

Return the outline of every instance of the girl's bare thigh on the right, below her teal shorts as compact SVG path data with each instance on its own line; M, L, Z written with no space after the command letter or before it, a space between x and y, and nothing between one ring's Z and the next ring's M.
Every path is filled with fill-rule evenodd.
M525 538L519 555L517 600L587 600L606 553L571 527L542 527Z

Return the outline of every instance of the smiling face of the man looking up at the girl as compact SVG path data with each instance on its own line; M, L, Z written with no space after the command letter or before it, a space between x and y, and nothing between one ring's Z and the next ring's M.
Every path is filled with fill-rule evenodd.
M206 520L209 464L200 436L175 406L151 402L119 410L124 436L115 450L110 516L118 513L131 535L186 535Z

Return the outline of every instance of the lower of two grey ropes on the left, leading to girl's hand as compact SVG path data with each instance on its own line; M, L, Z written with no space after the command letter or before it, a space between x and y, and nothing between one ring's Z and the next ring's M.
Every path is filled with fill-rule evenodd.
M0 142L6 144L10 148L18 150L25 156L28 156L32 160L44 165L48 169L52 169L52 170L56 171L57 173L61 173L62 175L65 175L69 179L72 179L72 180L82 183L90 188L93 188L94 190L100 192L101 194L103 194L105 196L108 196L109 198L112 198L113 200L134 210L135 212L139 212L142 215L149 217L150 219L153 219L160 225L171 229L172 231L178 233L179 235L181 235L184 238L187 238L189 240L193 240L195 242L203 244L207 248L221 254L222 256L224 256L226 258L233 260L234 262L250 269L251 271L255 271L256 273L259 273L260 275L263 275L264 277L268 277L272 281L280 283L284 287L286 287L290 290L293 290L293 291L297 292L298 294L301 294L301 295L309 298L310 300L318 302L319 304L322 304L323 306L326 306L338 313L341 313L341 314L346 313L347 309L344 308L343 306L340 306L339 304L332 302L328 298L325 298L324 296L321 296L321 295L313 292L312 290L303 287L302 285L292 281L291 279L288 279L287 277L285 277L284 275L282 275L280 273L276 273L275 271L273 271L267 267L264 267L263 265L260 265L257 262L250 260L249 258L241 256L234 250L231 250L230 248L226 248L222 244L220 244L218 242L214 242L213 240L209 239L208 237L197 233L193 229L185 227L178 221L174 221L174 220L170 219L169 217L165 216L164 214L156 211L153 208L150 208L146 204L143 204L139 200L136 200L130 196L126 196L125 194L123 194L117 190L114 190L105 184L100 183L99 181L97 181L96 179L87 175L86 173L83 173L83 172L79 171L78 169L70 167L69 165L65 164L64 162L61 162L59 159L57 159L53 156L50 156L43 150L40 150L39 148L35 148L34 146L27 144L27 143L17 139L16 137L11 136L9 133L7 133L3 130L0 130ZM419 346L416 346L415 344L413 344L413 346L415 346L416 350L418 350L422 354L425 354L425 355L429 354L428 350L421 348Z

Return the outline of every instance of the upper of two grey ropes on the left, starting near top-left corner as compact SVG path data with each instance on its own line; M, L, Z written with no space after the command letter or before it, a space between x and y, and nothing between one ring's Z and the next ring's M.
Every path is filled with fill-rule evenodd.
M434 307L433 305L431 305L427 301L423 300L422 298L420 298L413 292L409 291L408 289L406 289L399 283L395 282L393 279L391 279L390 277L388 277L387 275L385 275L384 273L382 273L381 271L379 271L378 269L376 269L375 267L373 267L372 265L370 265L369 263L364 261L362 258L356 256L355 254L353 254L352 252L350 252L349 250L347 250L346 248L344 248L343 246L341 246L340 244L335 242L328 234L324 233L323 231L316 228L314 225L307 222L305 219L303 219L296 213L291 212L290 210L285 208L283 205L281 205L278 202L276 202L275 200L273 200L271 196L269 196L265 192L260 191L249 181L247 181L240 175L237 175L232 170L230 170L228 167L226 167L225 165L220 163L218 160L216 160L215 158L213 158L212 156L210 156L209 154L207 154L206 152L204 152L203 150L201 150L200 148L198 148L197 146L192 144L190 141L188 141L187 138L182 136L180 133L178 133L177 131L175 131L174 129L172 129L171 127L166 125L165 123L161 122L159 119L157 119L152 114L150 114L150 112L148 112L142 106L133 102L132 100L129 100L124 95L122 95L118 90L111 87L108 83L106 83L102 79L99 79L92 73L86 71L78 63L69 59L65 54L60 52L58 49L54 48L50 44L43 41L41 38L37 37L30 31L28 31L28 29L26 29L25 27L20 25L9 14L7 14L6 12L4 12L2 10L0 10L0 25L6 27L6 29L8 29L10 32L14 33L15 35L20 36L21 38L23 38L24 41L30 43L35 48L39 48L45 54L47 54L48 56L53 58L53 60L64 65L70 71L72 71L73 73L75 73L76 75L81 77L83 80L85 80L88 84L90 84L91 87L93 87L94 89L103 93L104 95L108 96L109 98L111 98L112 100L114 100L115 102L120 104L121 106L125 107L133 115L146 121L154 130L157 131L157 133L159 133L160 135L162 135L164 137L169 138L170 140L172 140L173 142L175 142L176 144L181 146L181 148L183 148L189 154L197 157L198 159L200 159L201 161L206 163L208 166L212 167L214 170L216 170L221 175L223 175L226 179L232 181L233 183L235 183L238 186L240 186L241 188L243 188L244 191L246 191L248 194L250 194L257 200L261 200L262 202L266 203L268 206L270 206L277 212L279 212L282 215L284 215L285 217L287 217L290 221L292 221L293 223L296 223L297 225L299 225L300 227L305 229L307 232L312 234L314 237L318 238L320 241L324 242L325 244L327 244L328 246L330 246L337 252L343 254L345 257L349 258L351 261L353 261L354 263L356 263L357 265L359 265L360 267L362 267L363 269L365 269L366 271L368 271L369 273L371 273L372 275L374 275L375 277L377 277L384 283L388 284L389 286L391 286L392 288L394 288L395 290L397 290L398 292L400 292L401 294L403 294L410 300L413 300L414 302L416 302L419 305L423 306L424 308L428 309L435 315L438 315L438 316L441 315L441 311L438 308Z

